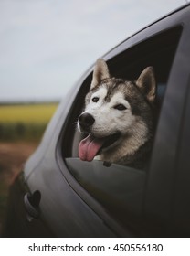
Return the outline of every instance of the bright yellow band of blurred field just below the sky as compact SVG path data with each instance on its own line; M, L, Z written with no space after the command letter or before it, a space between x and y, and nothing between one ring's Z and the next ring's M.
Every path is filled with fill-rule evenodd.
M58 103L0 106L0 123L47 123Z

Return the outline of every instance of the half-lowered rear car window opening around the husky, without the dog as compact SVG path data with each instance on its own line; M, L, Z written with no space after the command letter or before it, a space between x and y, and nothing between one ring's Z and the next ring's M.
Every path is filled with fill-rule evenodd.
M153 66L157 81L157 122L181 32L180 26L165 30L107 61L111 76L127 80L136 80L143 69ZM79 160L78 146L82 135L76 128L76 122L83 108L84 97L89 91L91 79L92 73L81 84L69 115L68 128L61 138L63 160L71 175L90 196L96 198L122 224L138 229L149 162L144 168L137 169L127 165L108 166L98 160Z

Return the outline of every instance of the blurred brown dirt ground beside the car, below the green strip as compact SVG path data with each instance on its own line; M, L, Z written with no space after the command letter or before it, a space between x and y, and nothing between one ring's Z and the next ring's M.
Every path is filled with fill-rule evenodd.
M33 143L1 143L0 142L0 235L8 187L22 169L22 165L31 155L37 144Z

